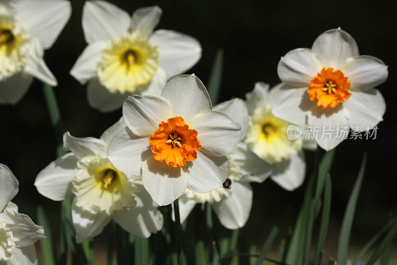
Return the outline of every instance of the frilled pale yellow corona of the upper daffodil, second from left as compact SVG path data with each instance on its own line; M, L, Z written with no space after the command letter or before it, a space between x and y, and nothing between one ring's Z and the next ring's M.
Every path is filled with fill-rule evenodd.
M159 64L158 48L139 32L109 41L97 67L100 83L110 92L134 92L148 84Z

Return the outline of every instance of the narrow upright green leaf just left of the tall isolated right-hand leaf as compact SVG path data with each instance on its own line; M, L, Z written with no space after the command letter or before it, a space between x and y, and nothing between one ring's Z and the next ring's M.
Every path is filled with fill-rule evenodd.
M323 205L323 212L321 215L319 241L317 243L317 248L313 260L314 265L321 264L320 256L326 243L328 224L330 221L330 212L331 212L331 177L330 174L328 174L326 177L326 184L325 184L324 205Z

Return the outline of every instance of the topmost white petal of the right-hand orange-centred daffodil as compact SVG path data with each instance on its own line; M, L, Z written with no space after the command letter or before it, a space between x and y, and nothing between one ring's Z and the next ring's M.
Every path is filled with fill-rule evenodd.
M356 41L340 28L327 30L318 36L312 50L323 59L325 68L339 68L347 58L358 56Z

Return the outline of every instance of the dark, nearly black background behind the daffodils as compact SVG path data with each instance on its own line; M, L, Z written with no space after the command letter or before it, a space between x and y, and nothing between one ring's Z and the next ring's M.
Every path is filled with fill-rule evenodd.
M359 250L378 232L391 213L396 214L397 78L394 71L397 66L397 16L393 8L382 1L376 4L372 1L356 4L350 1L254 0L111 2L130 13L136 8L157 4L163 9L157 28L196 37L202 45L202 58L188 74L195 73L204 85L208 82L216 51L223 49L219 101L244 98L257 81L270 85L279 83L276 68L280 57L294 48L310 48L325 30L340 26L349 32L357 41L360 54L378 57L389 66L388 81L378 87L386 99L387 109L375 140L346 140L337 147L331 170L331 221L324 256L336 255L338 229L364 151L368 152L368 164L352 229L351 252ZM46 51L45 61L59 82L55 93L65 131L76 137L99 137L120 118L121 110L102 114L91 109L85 86L69 75L86 46L81 28L84 1L71 0L71 3L71 19L55 45ZM19 193L14 199L20 212L35 220L36 206L45 206L57 235L60 203L41 196L33 186L37 174L56 158L55 134L41 87L35 80L17 105L0 105L0 162L20 181ZM312 172L314 154L307 152L306 157L308 171ZM293 192L280 188L270 179L253 184L254 205L241 232L249 244L263 244L281 209L289 203L293 203L294 214L288 222L294 223L306 184L305 181Z

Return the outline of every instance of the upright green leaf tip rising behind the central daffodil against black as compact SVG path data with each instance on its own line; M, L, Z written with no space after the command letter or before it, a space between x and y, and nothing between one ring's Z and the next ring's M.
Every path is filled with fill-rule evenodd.
M220 49L216 52L207 86L209 98L211 98L212 105L215 105L219 99L220 84L222 81L222 71L223 71L223 50Z

